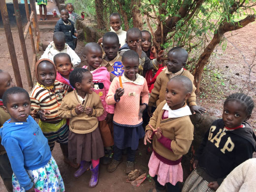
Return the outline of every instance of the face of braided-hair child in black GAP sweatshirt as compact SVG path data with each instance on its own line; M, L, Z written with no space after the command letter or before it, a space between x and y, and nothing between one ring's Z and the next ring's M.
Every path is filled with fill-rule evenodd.
M227 128L235 128L250 118L247 115L246 106L236 100L227 101L224 104L222 118Z

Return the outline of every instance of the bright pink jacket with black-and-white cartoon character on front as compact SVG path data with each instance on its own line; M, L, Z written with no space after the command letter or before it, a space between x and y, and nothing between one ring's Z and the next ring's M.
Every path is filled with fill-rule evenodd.
M83 66L83 68L87 68L86 65ZM110 87L110 74L107 71L107 68L104 66L101 66L94 71L91 71L93 74L93 82L94 82L94 91L96 94L100 97L104 113L100 117L98 117L98 121L103 121L106 119L106 116L108 113L114 114L115 105L108 105L106 103L106 96L108 94L108 89Z

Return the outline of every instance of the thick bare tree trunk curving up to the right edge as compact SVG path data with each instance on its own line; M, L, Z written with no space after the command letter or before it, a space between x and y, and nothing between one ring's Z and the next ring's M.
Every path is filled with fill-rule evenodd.
M221 42L221 39L225 32L235 31L238 29L241 29L248 25L251 22L254 22L256 18L256 15L249 15L243 20L240 20L239 22L235 23L226 23L224 22L223 25L219 27L217 31L214 32L213 39L211 42L207 45L207 47L204 49L204 52L201 54L199 61L197 62L194 70L194 85L196 87L195 93L199 93L200 88L200 82L201 77L203 73L204 66L209 62L209 58L214 51L216 45L218 45Z

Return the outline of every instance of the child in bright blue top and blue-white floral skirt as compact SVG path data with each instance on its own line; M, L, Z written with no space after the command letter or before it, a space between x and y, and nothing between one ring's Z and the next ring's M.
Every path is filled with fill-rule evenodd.
M4 111L11 116L0 129L0 136L14 172L13 192L64 192L47 139L30 116L28 92L12 87L4 92L2 100Z

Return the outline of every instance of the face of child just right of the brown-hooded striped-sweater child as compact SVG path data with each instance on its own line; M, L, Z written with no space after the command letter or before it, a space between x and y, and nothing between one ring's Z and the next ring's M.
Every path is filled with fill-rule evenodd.
M55 65L57 70L61 73L62 76L68 77L72 69L72 64L67 57L58 57L55 60Z

